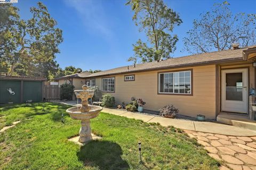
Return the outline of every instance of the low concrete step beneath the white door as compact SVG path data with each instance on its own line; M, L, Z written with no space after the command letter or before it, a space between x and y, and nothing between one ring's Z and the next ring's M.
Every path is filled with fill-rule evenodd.
M217 122L256 131L256 121L250 120L247 116L220 114L217 116Z

